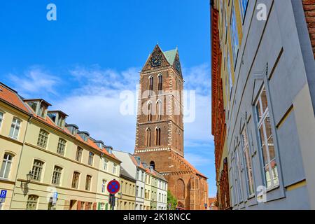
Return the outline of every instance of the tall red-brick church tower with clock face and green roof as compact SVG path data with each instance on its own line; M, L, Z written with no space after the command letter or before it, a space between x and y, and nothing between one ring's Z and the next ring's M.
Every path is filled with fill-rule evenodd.
M205 209L207 177L184 158L183 75L177 49L156 45L140 72L134 155L169 181L185 209Z

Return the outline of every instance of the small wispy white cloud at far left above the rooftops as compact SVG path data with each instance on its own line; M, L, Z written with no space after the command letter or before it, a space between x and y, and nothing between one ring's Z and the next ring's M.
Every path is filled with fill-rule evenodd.
M42 98L45 94L57 95L56 87L61 83L57 76L44 71L39 66L32 66L24 75L8 74L13 88L24 97L36 96Z

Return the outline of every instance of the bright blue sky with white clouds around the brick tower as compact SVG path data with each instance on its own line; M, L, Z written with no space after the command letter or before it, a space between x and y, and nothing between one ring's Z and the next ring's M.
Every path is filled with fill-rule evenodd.
M55 3L57 21L46 20ZM205 0L3 1L0 80L23 97L41 97L92 137L134 151L135 116L119 113L120 92L136 91L158 42L178 46L196 119L185 124L185 153L216 195L211 137L210 13Z

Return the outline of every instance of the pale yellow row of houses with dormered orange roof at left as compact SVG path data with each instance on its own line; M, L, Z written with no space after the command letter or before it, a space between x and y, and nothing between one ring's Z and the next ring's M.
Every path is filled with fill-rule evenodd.
M109 209L107 183L119 179L121 163L112 148L43 99L0 87L1 209Z

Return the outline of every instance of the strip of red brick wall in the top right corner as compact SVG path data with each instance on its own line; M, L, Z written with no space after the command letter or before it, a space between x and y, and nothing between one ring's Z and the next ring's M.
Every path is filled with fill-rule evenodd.
M302 3L315 58L315 0L302 0Z

